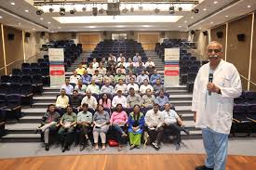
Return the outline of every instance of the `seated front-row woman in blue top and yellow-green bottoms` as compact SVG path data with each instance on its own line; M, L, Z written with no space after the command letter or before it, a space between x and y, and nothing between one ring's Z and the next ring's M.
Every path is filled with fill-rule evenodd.
M130 150L140 148L141 134L143 133L143 126L145 124L144 115L141 112L139 105L133 107L133 111L128 116L128 137Z

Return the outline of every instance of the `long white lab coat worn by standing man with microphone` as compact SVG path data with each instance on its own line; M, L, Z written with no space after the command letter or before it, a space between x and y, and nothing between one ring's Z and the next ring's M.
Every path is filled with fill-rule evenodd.
M234 98L241 95L242 85L236 67L221 60L213 72L212 83L221 88L222 94L207 90L209 63L203 65L195 78L192 111L196 111L195 127L209 127L213 131L229 134L233 120Z

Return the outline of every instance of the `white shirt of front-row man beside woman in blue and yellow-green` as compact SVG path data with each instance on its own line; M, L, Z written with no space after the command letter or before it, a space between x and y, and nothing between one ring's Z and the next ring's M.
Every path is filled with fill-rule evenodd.
M161 111L157 111L155 113L153 109L147 111L145 115L145 124L147 126L157 126L157 125L160 126L164 124L163 113Z

